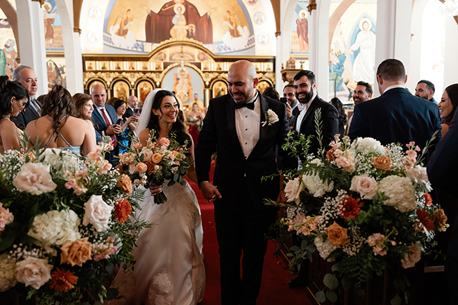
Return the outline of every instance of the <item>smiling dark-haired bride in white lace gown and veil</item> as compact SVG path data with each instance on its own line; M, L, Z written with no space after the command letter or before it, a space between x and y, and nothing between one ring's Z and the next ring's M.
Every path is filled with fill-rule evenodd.
M137 124L143 146L155 130L158 139L175 132L181 144L188 140L189 155L194 159L192 138L178 119L179 106L172 92L155 89L142 108ZM197 182L194 164L188 168L187 177ZM154 204L153 196L163 191L167 202ZM151 193L151 195L150 195ZM150 186L142 211L137 218L153 225L143 229L133 252L133 272L120 270L112 287L119 289L123 299L109 304L191 305L201 302L205 289L205 268L202 256L203 229L200 209L194 191L185 185Z

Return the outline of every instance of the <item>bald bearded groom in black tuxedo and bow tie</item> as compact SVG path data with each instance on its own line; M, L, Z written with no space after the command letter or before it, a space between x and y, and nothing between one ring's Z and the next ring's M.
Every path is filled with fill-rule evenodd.
M262 96L258 82L251 62L239 60L230 66L230 95L210 101L195 151L199 187L206 200L214 200L222 305L256 304L267 248L264 234L275 219L275 209L262 199L275 200L280 191L278 177L264 182L261 177L276 171L275 145L281 147L289 130L286 107ZM266 118L267 110L275 117ZM215 152L217 166L210 184Z

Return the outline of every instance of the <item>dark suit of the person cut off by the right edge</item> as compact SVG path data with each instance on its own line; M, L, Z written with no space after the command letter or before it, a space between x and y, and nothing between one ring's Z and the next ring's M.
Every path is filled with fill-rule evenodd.
M458 198L458 112L455 112L448 132L436 146L427 164L427 176L437 187ZM449 219L450 220L450 219ZM458 299L458 218L455 220L446 256L446 281L449 304Z

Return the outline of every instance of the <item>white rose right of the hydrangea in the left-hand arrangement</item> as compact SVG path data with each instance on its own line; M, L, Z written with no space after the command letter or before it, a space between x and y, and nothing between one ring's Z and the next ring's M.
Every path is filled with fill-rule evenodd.
M84 207L83 225L91 224L99 232L108 227L113 207L106 204L101 195L92 195Z

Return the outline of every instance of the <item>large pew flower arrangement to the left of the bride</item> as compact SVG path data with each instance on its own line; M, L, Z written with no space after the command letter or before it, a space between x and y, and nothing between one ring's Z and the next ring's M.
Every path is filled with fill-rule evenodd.
M99 150L84 158L38 147L0 156L0 292L40 305L117 297L105 285L114 265L133 263L149 227L132 215L143 194Z

